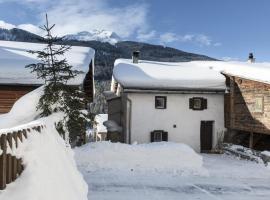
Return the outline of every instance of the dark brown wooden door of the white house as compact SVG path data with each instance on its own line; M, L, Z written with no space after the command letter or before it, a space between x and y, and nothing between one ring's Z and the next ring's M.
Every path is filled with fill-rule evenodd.
M201 152L212 150L213 121L201 121Z

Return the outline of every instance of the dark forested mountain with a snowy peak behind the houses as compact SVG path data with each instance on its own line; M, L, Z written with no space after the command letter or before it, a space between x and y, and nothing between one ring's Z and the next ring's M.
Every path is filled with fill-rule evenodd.
M13 28L0 28L0 40L40 42L42 37ZM86 40L86 41L85 41ZM88 41L90 40L90 41ZM81 32L64 37L61 43L75 46L92 47L96 51L95 80L111 79L114 61L117 58L131 58L132 52L139 50L144 60L164 62L186 62L193 60L215 60L208 56L189 53L175 48L133 41L119 41L119 37L110 31Z

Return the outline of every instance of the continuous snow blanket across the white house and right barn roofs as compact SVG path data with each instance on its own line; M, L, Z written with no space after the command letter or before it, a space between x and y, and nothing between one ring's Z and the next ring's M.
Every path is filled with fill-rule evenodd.
M270 83L270 63L225 61L155 62L140 60L115 61L113 76L124 88L130 89L206 89L223 90L230 74Z

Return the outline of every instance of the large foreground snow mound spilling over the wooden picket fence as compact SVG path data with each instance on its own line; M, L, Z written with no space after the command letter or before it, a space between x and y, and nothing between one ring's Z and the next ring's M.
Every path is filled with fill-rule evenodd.
M59 115L38 120L46 124L42 133L32 131L20 144L25 169L0 192L1 200L86 200L87 184L78 172L73 151L55 130Z

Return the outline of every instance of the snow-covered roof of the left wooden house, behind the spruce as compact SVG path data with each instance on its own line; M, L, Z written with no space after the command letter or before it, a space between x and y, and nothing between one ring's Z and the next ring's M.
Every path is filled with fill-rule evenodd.
M44 81L37 79L36 74L31 73L25 66L37 63L36 55L30 54L28 50L42 50L45 44L11 42L0 40L0 84L25 84L40 85ZM72 46L65 54L68 63L83 74L69 81L70 85L79 85L83 82L85 74L89 71L89 64L94 58L95 51L88 47ZM60 57L59 57L60 58Z

